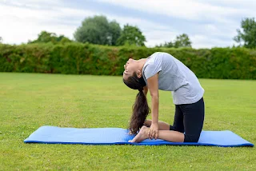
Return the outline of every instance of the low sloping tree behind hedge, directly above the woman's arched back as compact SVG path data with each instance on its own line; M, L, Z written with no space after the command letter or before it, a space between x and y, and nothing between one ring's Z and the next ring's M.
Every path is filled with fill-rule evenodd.
M181 34L176 37L174 42L165 42L157 47L191 47L191 41L187 34Z

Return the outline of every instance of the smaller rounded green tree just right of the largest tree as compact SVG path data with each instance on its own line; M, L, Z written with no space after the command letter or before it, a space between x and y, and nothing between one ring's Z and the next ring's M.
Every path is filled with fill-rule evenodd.
M118 38L118 46L145 46L144 42L146 42L146 38L142 31L137 26L129 26L128 24L124 26L121 36Z

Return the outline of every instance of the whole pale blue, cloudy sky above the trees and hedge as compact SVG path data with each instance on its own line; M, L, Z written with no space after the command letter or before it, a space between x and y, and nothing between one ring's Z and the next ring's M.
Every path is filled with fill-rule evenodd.
M74 39L82 20L104 15L109 21L138 26L146 46L188 34L192 47L236 45L243 18L256 17L255 0L0 0L0 37L21 44L42 30Z

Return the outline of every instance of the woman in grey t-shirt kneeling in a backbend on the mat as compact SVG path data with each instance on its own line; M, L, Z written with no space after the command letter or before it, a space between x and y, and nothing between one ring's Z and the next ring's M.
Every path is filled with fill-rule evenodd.
M159 138L172 142L198 142L204 121L204 89L195 74L167 53L154 53L149 58L129 59L124 66L123 82L138 89L130 119L130 142ZM152 121L146 93L150 90ZM171 91L175 105L174 125L158 121L158 89ZM139 131L139 132L138 132Z

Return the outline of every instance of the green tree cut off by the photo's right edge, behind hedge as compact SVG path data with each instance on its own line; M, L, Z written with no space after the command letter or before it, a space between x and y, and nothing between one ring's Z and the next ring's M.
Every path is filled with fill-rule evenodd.
M254 18L245 18L241 22L242 30L237 30L238 35L234 37L234 41L241 43L246 48L256 47L256 22Z

